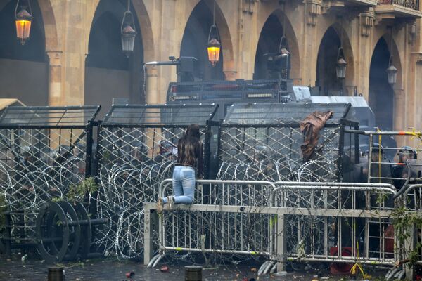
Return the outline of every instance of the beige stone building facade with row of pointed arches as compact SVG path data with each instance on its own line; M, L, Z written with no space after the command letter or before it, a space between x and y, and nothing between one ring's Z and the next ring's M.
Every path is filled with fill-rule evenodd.
M38 0L50 58L50 105L78 105L93 98L85 87L85 58L99 1ZM199 1L132 0L144 61L179 56L186 23ZM212 11L212 0L202 1ZM391 26L390 51L399 70L391 112L394 126L418 125L418 107L422 105L418 77L422 70L416 61L422 57L421 11L377 6L373 0L216 0L215 22L223 46L225 79L252 79L260 33L270 15L276 15L285 28L295 84L315 85L319 46L328 28L333 27L341 34L348 63L345 93L351 95L356 87L366 99L373 50L381 37L390 44ZM148 67L146 102L164 103L167 84L176 78L175 67Z

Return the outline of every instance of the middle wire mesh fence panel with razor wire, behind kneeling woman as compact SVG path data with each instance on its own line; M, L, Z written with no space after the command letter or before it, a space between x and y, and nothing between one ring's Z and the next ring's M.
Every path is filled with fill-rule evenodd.
M110 218L98 227L98 249L133 258L143 251L143 202L156 202L158 186L172 177L177 143L188 125L200 125L205 159L206 133L215 105L113 106L98 128L97 216ZM205 162L207 164L207 162Z

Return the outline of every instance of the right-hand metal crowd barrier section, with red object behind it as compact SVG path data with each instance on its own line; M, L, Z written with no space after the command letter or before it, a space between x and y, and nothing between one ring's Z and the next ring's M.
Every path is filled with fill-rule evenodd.
M278 209L273 240L282 241L276 261L331 261L391 265L394 236L390 226L397 192L388 184L374 183L274 183L271 206ZM373 195L377 204L373 204ZM389 195L389 196L388 196ZM379 199L378 199L379 198ZM363 204L362 204L363 201ZM372 204L371 204L372 203ZM359 246L360 247L359 247Z

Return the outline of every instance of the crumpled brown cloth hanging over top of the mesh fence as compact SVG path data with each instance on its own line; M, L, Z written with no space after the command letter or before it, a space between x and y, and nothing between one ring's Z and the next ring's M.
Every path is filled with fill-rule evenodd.
M318 144L319 131L324 128L327 120L332 116L332 111L315 111L300 122L300 131L302 131L305 137L303 144L300 145L304 162L307 162L314 154L316 145Z

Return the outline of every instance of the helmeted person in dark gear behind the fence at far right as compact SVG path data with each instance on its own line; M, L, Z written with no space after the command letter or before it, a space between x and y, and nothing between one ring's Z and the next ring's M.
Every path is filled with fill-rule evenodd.
M392 177L396 178L394 180L394 185L397 190L400 190L404 183L406 182L407 177L409 176L409 169L406 166L406 162L408 161L410 164L416 162L418 159L418 154L416 150L412 149L410 146L403 146L400 148L399 153L397 153L399 157L399 162L392 167ZM410 171L411 177L416 176L415 171Z

